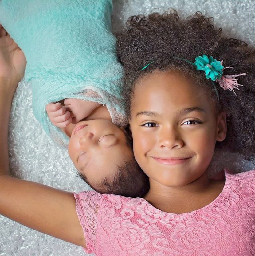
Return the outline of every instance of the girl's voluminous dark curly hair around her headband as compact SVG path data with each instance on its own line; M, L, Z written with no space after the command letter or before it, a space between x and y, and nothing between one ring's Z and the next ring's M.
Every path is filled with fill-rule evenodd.
M227 137L217 147L239 152L255 161L255 51L237 39L227 39L222 29L214 27L213 18L197 12L187 18L179 18L173 9L163 14L138 15L128 19L126 29L117 41L117 55L124 66L124 90L127 114L130 117L135 83L155 70L179 70L201 87L218 110L227 113ZM224 75L247 72L237 77L240 90L224 91L215 83L219 100L210 79L204 71L198 71L182 58L194 62L197 56L213 56L223 60ZM177 58L176 58L177 57ZM151 63L152 62L152 63ZM147 64L148 65L145 69ZM143 70L142 70L143 69Z

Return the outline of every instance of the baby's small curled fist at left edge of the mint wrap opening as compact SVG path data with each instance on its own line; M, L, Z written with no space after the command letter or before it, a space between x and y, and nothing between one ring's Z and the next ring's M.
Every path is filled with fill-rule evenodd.
M49 103L46 106L46 112L51 123L59 128L65 128L72 123L71 113L66 111L65 106L60 102Z

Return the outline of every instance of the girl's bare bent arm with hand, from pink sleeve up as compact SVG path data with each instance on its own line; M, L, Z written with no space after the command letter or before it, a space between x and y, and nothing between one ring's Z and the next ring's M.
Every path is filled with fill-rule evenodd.
M12 98L24 69L22 51L0 27L0 214L85 247L72 193L9 176L8 122Z

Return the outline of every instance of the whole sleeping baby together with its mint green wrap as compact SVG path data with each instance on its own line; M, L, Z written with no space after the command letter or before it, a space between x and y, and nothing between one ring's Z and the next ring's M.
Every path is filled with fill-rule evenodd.
M148 180L124 129L111 13L111 0L0 2L0 22L25 54L33 112L45 132L68 147L79 177L93 189L136 197L147 192ZM47 105L61 100L63 106Z

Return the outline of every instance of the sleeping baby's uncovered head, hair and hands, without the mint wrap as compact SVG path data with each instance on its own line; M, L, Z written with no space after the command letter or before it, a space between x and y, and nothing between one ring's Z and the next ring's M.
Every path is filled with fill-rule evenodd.
M78 176L93 189L129 197L147 192L147 176L135 161L132 139L124 127L112 123L106 106L65 99L49 103L46 111L52 124L70 137L69 156Z

